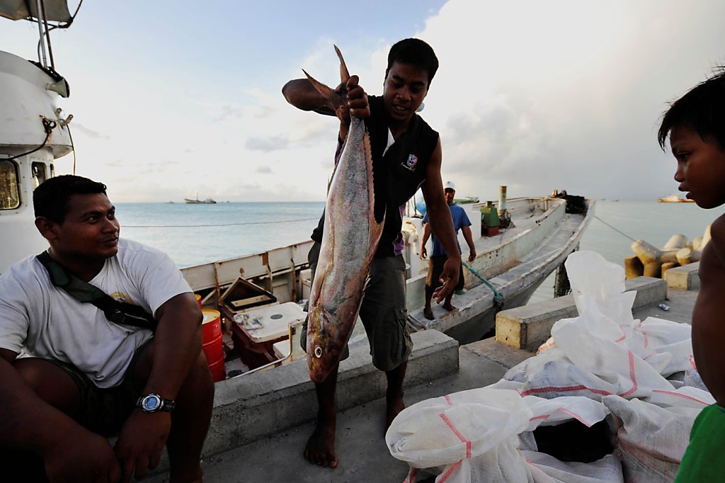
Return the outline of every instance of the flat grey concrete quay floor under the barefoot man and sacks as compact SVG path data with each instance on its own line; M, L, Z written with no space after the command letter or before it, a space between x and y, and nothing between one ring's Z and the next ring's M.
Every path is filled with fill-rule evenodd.
M658 293L661 294L662 291ZM643 320L654 316L690 323L696 297L696 290L669 288L665 300L661 300L661 297L658 300L650 297L645 302L646 305L634 310L634 317ZM664 311L658 307L662 302L670 310ZM547 310L546 302L531 304L527 308L535 310L537 307ZM457 371L436 379L423 380L419 384L417 382L421 378L411 376L413 381L411 387L406 389L405 401L411 405L431 397L493 384L502 378L508 368L531 355L531 352L499 344L494 338L463 345L457 349ZM409 369L409 373L415 373L415 369ZM339 398L345 397L340 390L338 393ZM407 475L408 466L407 463L393 458L386 447L384 410L384 398L378 398L339 412L336 440L339 466L335 469L312 465L303 458L305 442L314 429L314 423L310 420L293 429L269 434L249 444L206 458L203 462L204 481L402 482ZM253 428L250 427L249 430L253 431ZM244 432L244 427L239 428L239 431ZM159 474L144 481L167 482L168 476Z

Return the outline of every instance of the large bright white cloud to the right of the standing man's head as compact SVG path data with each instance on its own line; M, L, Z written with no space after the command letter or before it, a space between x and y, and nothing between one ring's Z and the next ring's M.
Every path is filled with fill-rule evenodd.
M722 15L713 2L449 1L418 33L441 61L422 115L444 178L484 198L499 184L512 197L671 191L655 125L722 58Z

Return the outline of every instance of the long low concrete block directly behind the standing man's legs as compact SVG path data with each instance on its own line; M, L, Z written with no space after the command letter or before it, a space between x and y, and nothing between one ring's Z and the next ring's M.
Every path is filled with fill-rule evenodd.
M415 332L405 386L449 376L458 371L458 342L439 331ZM338 410L346 410L385 395L385 374L370 359L367 340L350 346L340 363ZM215 385L212 423L202 455L268 437L317 416L315 387L307 361L298 360L268 371L238 376Z

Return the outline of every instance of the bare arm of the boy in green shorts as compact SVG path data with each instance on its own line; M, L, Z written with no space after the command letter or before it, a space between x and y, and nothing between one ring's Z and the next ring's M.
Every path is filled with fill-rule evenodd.
M692 311L692 351L697 371L725 407L725 215L711 226L700 258L700 292Z

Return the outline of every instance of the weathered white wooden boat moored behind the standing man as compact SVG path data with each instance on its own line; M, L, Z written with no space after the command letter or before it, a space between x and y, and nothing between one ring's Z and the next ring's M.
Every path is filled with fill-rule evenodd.
M496 207L497 203L491 205ZM510 228L495 236L475 235L481 233L479 210L484 204L462 206L468 210L473 222L471 228L477 257L468 264L476 273L465 270L465 293L453 297L457 310L447 312L442 307L434 307L436 318L433 321L423 317L427 262L418 255L421 218L405 219L404 257L409 267L407 308L410 329L437 329L465 344L489 334L498 311L529 301L539 285L577 248L584 229L594 217L594 202L587 200L588 210L577 214L567 212L565 199L508 200L507 210L512 223ZM461 242L465 247L465 242ZM231 342L241 345L243 352L252 350L262 355L252 359L249 354L242 354L243 368L275 366L302 356L294 335L289 342L289 334L294 334L305 318L302 305L310 293L307 267L310 247L312 240L307 240L181 270L192 289L202 296L204 306L218 308L223 314L225 328L233 336ZM479 276L492 284L501 296L500 301L495 300L494 290ZM274 313L275 306L278 307L278 318L269 319L270 310ZM256 326L249 325L249 321L254 321ZM274 329L270 331L268 324ZM365 339L362 324L357 325L360 335L353 336L354 342ZM230 362L229 372L239 373L239 366Z

